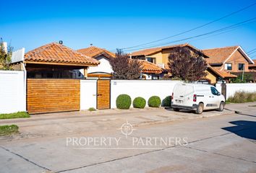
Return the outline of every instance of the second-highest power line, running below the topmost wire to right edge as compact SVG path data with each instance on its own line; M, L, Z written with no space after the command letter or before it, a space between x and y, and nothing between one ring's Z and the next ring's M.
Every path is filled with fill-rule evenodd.
M161 43L161 44L158 44L158 45L150 45L148 47L144 47L144 48L136 48L136 49L129 49L129 51L131 50L140 50L140 49L145 49L145 48L153 48L155 46L161 46L161 45L168 45L168 44L171 44L171 43L177 43L177 42L181 42L181 41L184 41L184 40L190 40L192 38L195 38L195 37L202 37L202 36L205 36L205 35L210 35L210 34L213 34L213 33L216 33L216 32L223 32L225 30L230 30L230 29L233 29L235 27L239 27L241 26L242 24L246 23L246 22L249 22L249 21L252 21L256 19L256 17L253 17L252 19L247 19L247 20L244 20L242 22L239 22L239 23L236 23L234 25L230 25L228 27L223 27L221 29L218 29L218 30L213 30L211 32L206 32L204 34L201 34L201 35L195 35L195 36L192 36L192 37L187 37L187 38L184 38L184 39L180 39L180 40L174 40L174 41L171 41L171 42L167 42L167 43ZM256 21L253 21L253 22L256 22Z

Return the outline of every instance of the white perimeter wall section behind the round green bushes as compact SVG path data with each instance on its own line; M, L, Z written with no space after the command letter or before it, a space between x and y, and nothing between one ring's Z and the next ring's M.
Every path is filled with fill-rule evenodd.
M163 100L171 96L174 85L181 81L161 81L161 80L111 80L111 108L116 107L116 97L119 94L128 94L132 101L135 97L143 97L147 101L155 95Z

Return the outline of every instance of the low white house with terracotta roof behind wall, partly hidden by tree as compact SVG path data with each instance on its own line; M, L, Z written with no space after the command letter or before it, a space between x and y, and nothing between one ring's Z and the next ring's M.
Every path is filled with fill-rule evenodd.
M88 48L82 48L77 50L85 56L90 56L100 61L98 66L91 66L88 68L88 77L92 79L110 79L113 73L111 64L109 63L110 58L115 58L116 54L110 51L90 46ZM142 61L142 79L158 79L163 74L163 69L156 66L154 63L148 61Z

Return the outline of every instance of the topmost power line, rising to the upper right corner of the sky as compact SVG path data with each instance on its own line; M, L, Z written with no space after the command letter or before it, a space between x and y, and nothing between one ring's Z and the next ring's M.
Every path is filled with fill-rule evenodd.
M187 31L184 31L184 32L179 32L179 33L176 34L176 35L171 35L171 36L169 36L169 37L164 37L164 38L162 38L162 39L155 40L155 41L152 41L152 42L149 42L149 43L144 43L144 44L141 44L141 45L134 45L134 46L130 46L130 47L127 47L127 48L121 48L121 50L130 49L130 48L137 48L137 47L140 47L140 46L142 46L142 45L149 45L149 44L151 44L151 43L156 43L156 42L159 42L159 41L162 41L162 40L166 40L166 39L171 38L171 37L176 37L176 36L178 36L178 35L183 35L183 34L185 34L185 33L187 33L187 32L191 32L191 31L193 31L193 30L197 30L198 28L201 28L201 27L205 27L205 26L207 26L207 25L210 25L210 24L212 24L212 23L214 23L214 22L217 22L217 21L219 21L219 20L221 20L221 19L225 19L226 17L230 17L231 15L236 14L236 13L238 13L238 12L242 12L242 11L244 11L245 9L248 9L248 8L251 7L251 6L255 6L255 4L256 4L256 3L250 4L249 6L245 6L244 8L239 9L239 10L237 10L236 12L231 12L230 14L227 14L227 15L225 15L225 16L223 16L223 17L220 17L220 18L218 18L218 19L215 19L215 20L213 20L213 21L211 21L211 22L208 22L208 23L206 23L206 24L204 24L204 25L200 25L200 26L198 26L198 27L194 27L194 28L192 28L192 29L190 29L190 30L187 30Z

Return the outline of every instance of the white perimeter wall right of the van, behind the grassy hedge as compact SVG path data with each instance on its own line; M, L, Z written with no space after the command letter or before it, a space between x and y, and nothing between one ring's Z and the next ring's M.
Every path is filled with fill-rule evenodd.
M221 92L221 84L216 84L217 89ZM256 83L226 84L226 99L234 96L235 92L256 92Z

